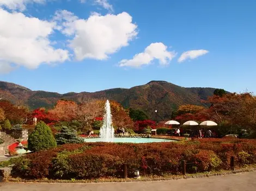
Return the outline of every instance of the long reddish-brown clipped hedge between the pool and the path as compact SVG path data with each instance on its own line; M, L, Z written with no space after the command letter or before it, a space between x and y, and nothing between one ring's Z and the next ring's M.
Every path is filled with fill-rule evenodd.
M13 175L26 178L92 179L122 176L123 163L128 173L139 169L142 174L181 174L181 161L189 173L229 169L230 157L236 165L256 163L256 140L198 139L187 142L146 144L82 143L65 144L35 152L16 161Z

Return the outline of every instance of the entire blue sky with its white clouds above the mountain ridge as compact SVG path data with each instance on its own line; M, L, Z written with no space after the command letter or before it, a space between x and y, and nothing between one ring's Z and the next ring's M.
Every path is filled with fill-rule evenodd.
M256 1L14 1L0 2L2 81L59 93L151 80L256 92Z

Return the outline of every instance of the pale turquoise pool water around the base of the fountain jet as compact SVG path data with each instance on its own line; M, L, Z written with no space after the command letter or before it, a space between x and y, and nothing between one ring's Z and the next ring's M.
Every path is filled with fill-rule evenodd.
M114 143L160 143L160 142L173 142L174 140L163 138L131 138L131 137L115 137ZM101 138L85 138L84 142L103 142Z

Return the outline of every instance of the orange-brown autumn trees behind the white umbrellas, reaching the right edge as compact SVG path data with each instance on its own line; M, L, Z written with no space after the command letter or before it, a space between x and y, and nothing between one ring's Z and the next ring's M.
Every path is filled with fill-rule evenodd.
M209 97L210 107L195 105L180 106L176 120L181 123L187 120L213 120L219 125L240 126L256 129L256 97L250 93L224 94Z

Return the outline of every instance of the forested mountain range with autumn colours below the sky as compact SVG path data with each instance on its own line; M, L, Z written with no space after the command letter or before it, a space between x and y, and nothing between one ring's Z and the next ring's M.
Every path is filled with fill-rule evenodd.
M27 105L30 109L38 107L51 108L59 99L74 100L77 103L89 98L118 101L124 107L141 109L149 116L160 119L170 118L179 105L194 104L206 106L203 100L213 95L215 88L185 88L167 81L150 81L142 86L132 88L113 88L99 92L65 93L32 91L26 87L0 81L0 93L16 104ZM1 98L1 94L0 94ZM155 113L157 110L157 113Z

